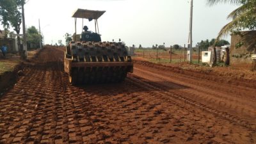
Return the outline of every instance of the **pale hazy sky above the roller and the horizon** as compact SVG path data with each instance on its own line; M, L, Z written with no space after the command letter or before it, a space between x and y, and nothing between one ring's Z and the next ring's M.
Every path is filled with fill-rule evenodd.
M38 26L45 44L65 43L65 33L75 32L74 13L77 8L106 10L98 19L102 41L117 42L127 46L143 47L188 44L190 0L27 0L26 26ZM207 5L206 0L194 0L193 45L201 40L216 38L227 24L228 13L237 5ZM95 31L94 22L84 20L89 30ZM82 31L82 20L77 20L77 33ZM224 38L230 41L230 36Z

